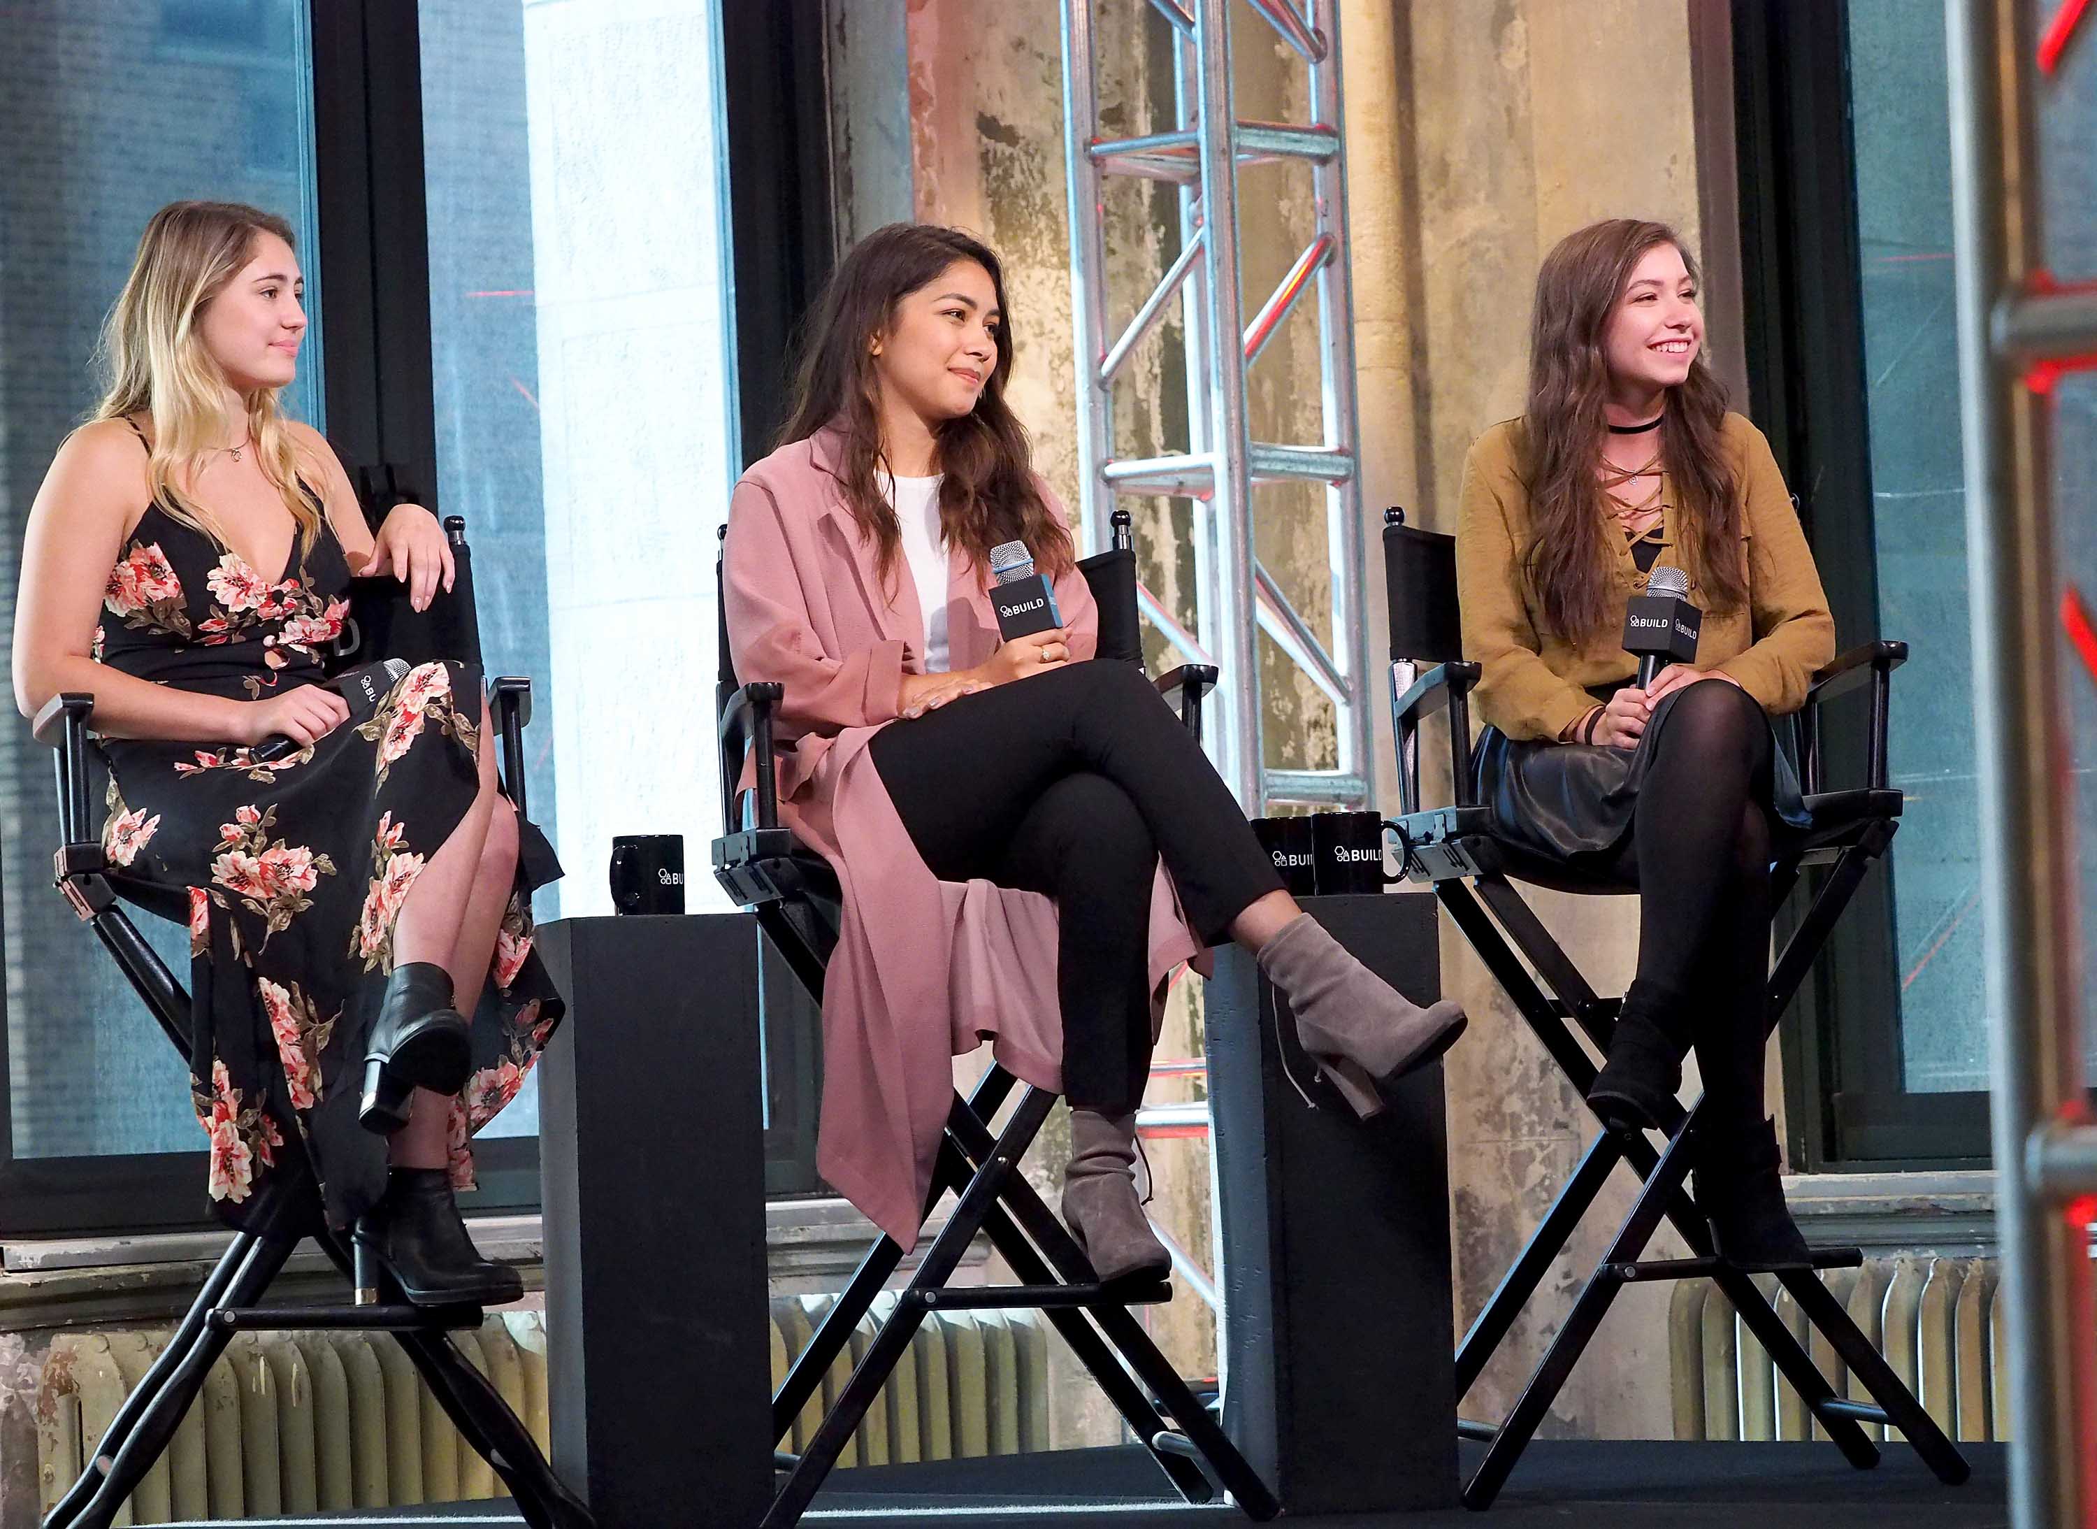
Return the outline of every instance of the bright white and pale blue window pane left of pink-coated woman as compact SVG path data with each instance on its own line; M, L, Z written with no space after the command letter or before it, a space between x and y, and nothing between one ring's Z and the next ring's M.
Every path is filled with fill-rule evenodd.
M501 570L491 665L537 677L568 914L610 910L612 835L682 833L698 866L715 833L740 461L713 13L421 4L438 497Z

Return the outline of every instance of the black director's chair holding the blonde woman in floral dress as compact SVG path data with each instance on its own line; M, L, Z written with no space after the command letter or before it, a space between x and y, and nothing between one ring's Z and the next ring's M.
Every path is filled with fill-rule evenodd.
M367 478L365 487L373 491L373 480ZM386 470L373 497L367 497L367 505L382 514L405 497L392 489L392 470ZM352 619L356 629L365 633L369 650L377 652L375 633L386 633L390 642L405 644L398 654L388 650L388 656L480 659L466 522L453 516L445 522L445 535L451 539L457 560L457 579L453 591L440 594L428 610L411 610L401 585L392 581L369 581L369 587L354 585ZM522 810L522 730L531 719L531 682L493 680L489 692L493 719L503 740L503 778L512 801ZM59 828L63 835L55 856L57 885L82 921L94 929L132 988L138 990L168 1040L187 1055L189 992L138 933L120 900L132 902L153 917L187 923L189 896L180 887L170 891L126 877L105 860L88 791L94 774L88 745L92 717L92 694L52 696L36 717L38 740L57 747ZM411 1307L398 1290L390 1288L390 1277L380 1290L380 1305L260 1305L271 1282L304 1237L312 1237L344 1279L352 1279L350 1240L333 1231L321 1214L319 1185L298 1133L285 1130L283 1135L285 1143L279 1149L277 1168L247 1206L247 1229L235 1233L233 1244L203 1282L203 1290L197 1292L197 1300L138 1386L124 1399L88 1468L52 1508L44 1529L107 1529L113 1525L126 1498L168 1449L182 1416L203 1388L206 1374L233 1342L233 1334L289 1330L392 1332L445 1416L510 1487L524 1523L533 1529L591 1529L589 1510L560 1485L526 1426L453 1344L451 1332L480 1326L480 1307Z

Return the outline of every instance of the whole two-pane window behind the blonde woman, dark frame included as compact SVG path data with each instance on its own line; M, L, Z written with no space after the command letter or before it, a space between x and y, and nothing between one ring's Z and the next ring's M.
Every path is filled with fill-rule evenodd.
M717 25L715 0L124 0L6 23L8 570L147 216L283 212L327 346L291 407L352 470L390 464L466 516L487 667L535 680L531 807L568 866L541 919L610 910L614 833L684 833L698 870L713 835L713 558L740 468ZM0 1233L201 1223L182 1063L50 889L50 761L25 728L0 738ZM705 875L692 902L719 906ZM136 923L187 969L180 931ZM468 1208L537 1200L535 1133L526 1093Z

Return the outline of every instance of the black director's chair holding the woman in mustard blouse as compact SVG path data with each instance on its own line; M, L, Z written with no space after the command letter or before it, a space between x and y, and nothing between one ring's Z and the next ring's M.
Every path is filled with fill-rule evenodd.
M1527 864L1520 852L1493 839L1491 812L1478 803L1472 789L1470 690L1478 682L1478 665L1466 663L1462 656L1455 539L1407 526L1403 510L1388 510L1384 514L1384 577L1390 596L1390 705L1399 745L1403 816L1397 822L1405 841L1405 870L1413 881L1432 883L1443 908L1449 910L1472 950L1485 961L1487 971L1522 1011L1522 1019L1550 1051L1558 1070L1585 1097L1594 1084L1596 1063L1581 1047L1581 1036L1606 1051L1621 998L1596 996L1512 883L1531 881L1575 893L1627 893L1634 889L1619 883L1569 881L1556 868ZM1835 659L1814 675L1808 690L1806 711L1799 715L1799 774L1814 826L1801 841L1782 849L1785 858L1774 868L1774 902L1780 906L1789 898L1801 868L1816 866L1822 868L1822 875L1812 883L1806 917L1785 942L1770 975L1770 1030L1776 1028L1785 1007L1820 954L1820 946L1826 944L1843 908L1850 906L1850 898L1856 896L1864 875L1885 854L1900 826L1902 793L1885 782L1885 728L1891 673L1906 656L1904 642L1868 642ZM1866 680L1871 682L1873 724L1866 766L1871 784L1860 791L1826 791L1822 787L1820 705ZM1420 724L1443 707L1449 709L1449 768L1455 782L1455 803L1422 807ZM1879 1460L1862 1424L1891 1424L1908 1437L1908 1443L1940 1481L1948 1485L1965 1481L1965 1458L1816 1275L1816 1269L1856 1267L1862 1263L1862 1252L1858 1248L1820 1248L1814 1254L1814 1269L1795 1269L1776 1277L1875 1401L1850 1401L1835 1395L1806 1349L1772 1311L1753 1277L1711 1256L1709 1229L1686 1187L1696 1105L1686 1112L1678 1110L1676 1118L1665 1124L1667 1143L1659 1154L1642 1130L1619 1135L1604 1128L1590 1143L1573 1177L1558 1191L1558 1200L1501 1277L1470 1332L1464 1334L1455 1357L1460 1397L1470 1391L1501 1338L1508 1336L1522 1305L1535 1294L1552 1261L1581 1216L1587 1214L1610 1168L1619 1162L1629 1164L1644 1181L1644 1189L1617 1229L1602 1263L1581 1288L1573 1311L1514 1409L1497 1426L1457 1424L1466 1437L1483 1439L1489 1445L1485 1462L1464 1487L1464 1502L1472 1508L1485 1508L1499 1493L1516 1458L1566 1376L1573 1374L1573 1365L1579 1363L1596 1328L1602 1326L1602 1315L1623 1286L1690 1277L1709 1277L1717 1284L1850 1464L1862 1468ZM1663 1221L1673 1223L1694 1256L1642 1256Z

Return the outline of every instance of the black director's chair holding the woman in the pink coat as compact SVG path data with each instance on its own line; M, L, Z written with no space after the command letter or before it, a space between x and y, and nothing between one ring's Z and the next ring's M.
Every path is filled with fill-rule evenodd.
M726 529L721 535L726 537ZM1114 550L1078 566L1101 612L1101 661L1143 663L1137 625L1137 554L1126 510L1114 512ZM759 927L786 956L795 975L820 998L824 965L839 935L837 877L778 822L772 717L782 686L765 682L738 686L726 617L719 638L723 837L713 841L713 875L730 898L757 914ZM1208 665L1183 665L1158 680L1160 692L1179 694L1181 717L1193 732L1202 730L1202 696L1214 684L1216 671ZM744 753L755 761L757 784L744 793L747 801L738 801L736 780L742 774ZM1019 1101L1011 1118L1002 1133L992 1133L990 1122L1015 1089ZM933 1206L950 1189L956 1196L954 1210L925 1250L893 1315L874 1334L837 1403L824 1414L807 1449L801 1456L774 1456L786 1479L763 1519L763 1529L799 1523L889 1372L908 1353L910 1338L935 1307L1042 1311L1187 1502L1214 1498L1210 1479L1202 1470L1206 1464L1248 1516L1267 1521L1279 1512L1267 1483L1246 1464L1216 1418L1166 1363L1130 1311L1132 1305L1170 1300L1172 1288L1164 1282L1134 1288L1101 1286L1069 1231L1019 1175L1019 1160L1053 1103L1055 1095L1019 1084L998 1065L990 1068L967 1099L954 1095L925 1216L931 1216ZM979 1231L990 1235L992 1246L1023 1284L946 1288ZM851 1284L830 1307L772 1399L774 1439L786 1437L801 1407L822 1388L822 1378L845 1353L853 1328L872 1309L874 1296L895 1273L902 1256L893 1237L881 1237L860 1261Z

